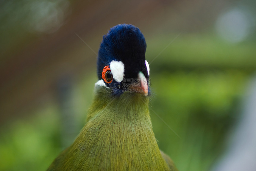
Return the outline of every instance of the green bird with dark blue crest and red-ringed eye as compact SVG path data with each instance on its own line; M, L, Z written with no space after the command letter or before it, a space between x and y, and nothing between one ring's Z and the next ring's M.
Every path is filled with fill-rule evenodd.
M145 53L144 35L132 24L113 26L103 36L85 125L47 171L177 171L152 130Z

